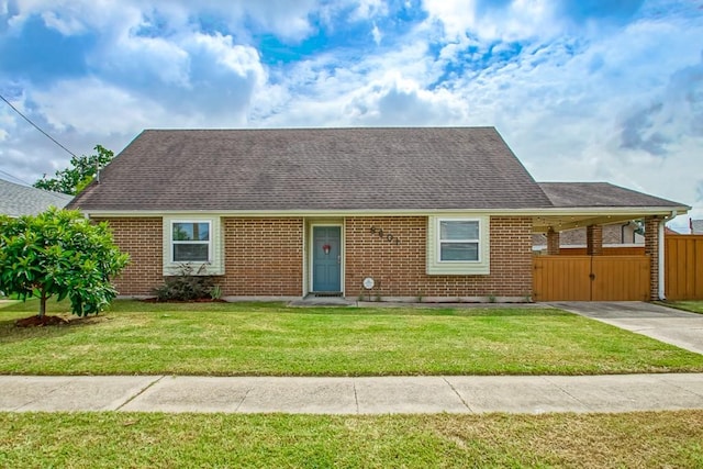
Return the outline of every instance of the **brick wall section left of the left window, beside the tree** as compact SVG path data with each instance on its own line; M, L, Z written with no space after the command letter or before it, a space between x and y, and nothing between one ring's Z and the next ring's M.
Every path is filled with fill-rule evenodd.
M150 294L164 282L163 223L160 217L93 219L107 221L120 250L130 255L130 264L113 283L120 294Z

